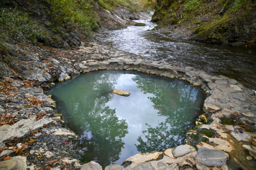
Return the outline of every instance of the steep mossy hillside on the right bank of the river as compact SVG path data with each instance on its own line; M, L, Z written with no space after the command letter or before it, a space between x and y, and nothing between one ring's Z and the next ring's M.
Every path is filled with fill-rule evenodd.
M256 43L254 0L158 0L153 22L186 27L196 41L224 45Z

